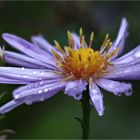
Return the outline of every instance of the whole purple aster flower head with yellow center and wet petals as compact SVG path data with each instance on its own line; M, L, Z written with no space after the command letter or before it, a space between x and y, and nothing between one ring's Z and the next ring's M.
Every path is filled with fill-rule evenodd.
M127 20L123 18L116 40L112 43L106 35L100 51L91 47L94 34L91 33L87 45L81 29L80 36L68 31L68 45L64 49L57 41L55 46L50 45L41 35L33 36L29 43L4 33L3 39L19 52L0 50L5 62L17 66L0 67L0 83L22 86L13 91L13 100L3 105L0 113L24 103L44 101L60 90L80 100L88 85L91 103L98 114L103 115L100 88L117 96L131 95L132 85L118 80L140 79L140 46L118 58L128 35L127 28Z

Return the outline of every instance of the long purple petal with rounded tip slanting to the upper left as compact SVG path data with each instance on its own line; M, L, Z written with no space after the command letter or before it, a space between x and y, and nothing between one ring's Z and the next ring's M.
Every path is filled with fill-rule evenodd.
M46 53L45 51L41 50L37 46L15 35L5 33L2 36L5 41L7 41L11 46L16 48L17 50L35 59L45 62L46 64L48 64L48 67L56 66L56 62L54 61L55 58Z

